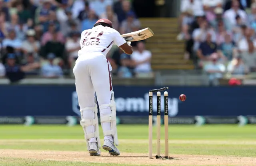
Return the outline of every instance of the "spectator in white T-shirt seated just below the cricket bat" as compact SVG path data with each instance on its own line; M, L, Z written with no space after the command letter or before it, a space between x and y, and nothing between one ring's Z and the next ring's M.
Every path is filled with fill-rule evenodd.
M145 44L142 41L137 43L137 50L131 56L136 73L151 72L150 61L152 53L145 49Z

